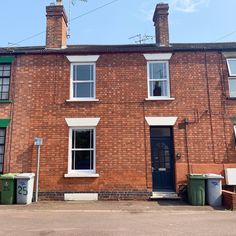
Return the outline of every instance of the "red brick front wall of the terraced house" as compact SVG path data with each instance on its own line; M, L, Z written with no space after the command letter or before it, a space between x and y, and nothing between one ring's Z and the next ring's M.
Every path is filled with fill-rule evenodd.
M189 171L223 174L224 167L236 167L230 120L236 114L235 101L224 96L227 71L217 52L173 54L173 101L145 100L146 61L138 53L100 56L97 102L66 102L70 64L63 55L21 55L15 66L11 153L5 163L10 163L11 172L35 172L33 140L42 137L41 192L151 192L150 127L145 116L178 117L173 128L175 154L181 154L175 160L177 191ZM64 178L69 134L65 118L72 117L101 118L96 130L98 178ZM185 118L186 131L180 129Z

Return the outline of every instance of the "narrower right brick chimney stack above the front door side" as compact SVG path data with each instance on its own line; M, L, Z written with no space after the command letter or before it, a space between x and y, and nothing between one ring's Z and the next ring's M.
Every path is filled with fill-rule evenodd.
M169 46L168 10L168 4L159 3L154 12L153 22L156 28L156 44L158 46Z

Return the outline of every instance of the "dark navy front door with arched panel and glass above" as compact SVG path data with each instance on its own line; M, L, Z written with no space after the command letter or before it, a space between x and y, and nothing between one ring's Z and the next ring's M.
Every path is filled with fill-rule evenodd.
M153 191L174 190L173 137L171 127L151 127Z

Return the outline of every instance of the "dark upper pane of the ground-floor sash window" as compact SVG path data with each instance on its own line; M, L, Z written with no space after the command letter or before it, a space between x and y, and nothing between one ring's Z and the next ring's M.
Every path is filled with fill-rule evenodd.
M74 148L93 148L93 130L73 130Z

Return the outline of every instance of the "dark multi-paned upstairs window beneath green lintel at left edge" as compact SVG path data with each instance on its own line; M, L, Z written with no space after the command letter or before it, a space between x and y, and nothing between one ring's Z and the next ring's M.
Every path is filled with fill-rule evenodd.
M0 100L9 99L11 65L0 64Z

